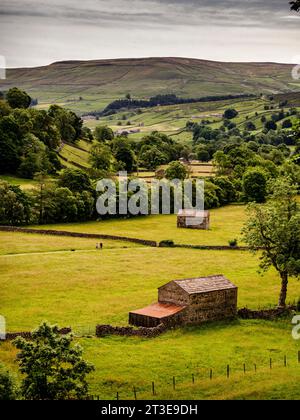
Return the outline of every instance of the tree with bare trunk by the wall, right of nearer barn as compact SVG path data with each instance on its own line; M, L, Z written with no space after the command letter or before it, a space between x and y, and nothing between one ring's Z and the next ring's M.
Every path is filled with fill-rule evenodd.
M260 268L271 266L281 278L279 307L286 306L289 277L300 276L300 208L297 188L289 178L277 179L264 206L251 204L243 235L254 253L262 248Z

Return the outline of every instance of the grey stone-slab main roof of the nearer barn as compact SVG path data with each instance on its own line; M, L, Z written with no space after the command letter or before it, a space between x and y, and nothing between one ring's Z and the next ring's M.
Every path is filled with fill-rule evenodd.
M173 280L170 283L175 283L189 295L237 289L237 287L222 274L185 280ZM161 288L166 287L168 284L162 286Z

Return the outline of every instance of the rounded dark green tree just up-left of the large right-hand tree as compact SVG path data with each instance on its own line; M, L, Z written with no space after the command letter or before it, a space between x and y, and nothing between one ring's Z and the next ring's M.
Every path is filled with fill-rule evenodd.
M248 169L243 176L243 192L248 202L263 203L267 195L267 177L260 168Z

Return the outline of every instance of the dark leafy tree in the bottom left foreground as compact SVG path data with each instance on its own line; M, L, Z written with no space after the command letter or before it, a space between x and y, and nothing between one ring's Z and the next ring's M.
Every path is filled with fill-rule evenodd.
M86 375L93 365L82 357L71 335L61 335L57 326L41 324L32 340L18 337L14 345L20 372L25 376L22 396L27 400L83 399L88 393Z

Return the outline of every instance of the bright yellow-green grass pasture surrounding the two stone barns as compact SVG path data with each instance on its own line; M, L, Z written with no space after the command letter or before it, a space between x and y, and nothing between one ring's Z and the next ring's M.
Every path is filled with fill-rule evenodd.
M236 236L244 219L244 207L229 206L212 212L211 232L176 229L174 216L51 227L149 239L170 235L182 243L226 243ZM116 392L120 398L133 398L134 386L138 398L300 398L300 342L292 339L291 319L217 322L172 330L152 340L93 337L97 323L126 325L128 312L155 302L157 288L172 279L223 273L239 287L239 307L276 305L278 276L273 270L263 277L258 274L259 256L246 251L148 248L118 241L103 241L104 249L96 251L95 242L0 232L0 305L8 331L31 330L44 320L71 326L84 356L96 366L89 382L91 392L101 398L113 399ZM76 252L70 252L71 248ZM298 299L299 294L299 283L291 280L288 300ZM13 371L15 354L11 343L0 345L0 361ZM287 368L283 368L285 355ZM229 380L227 364L232 372ZM176 391L172 390L173 376ZM155 397L151 396L152 381Z

